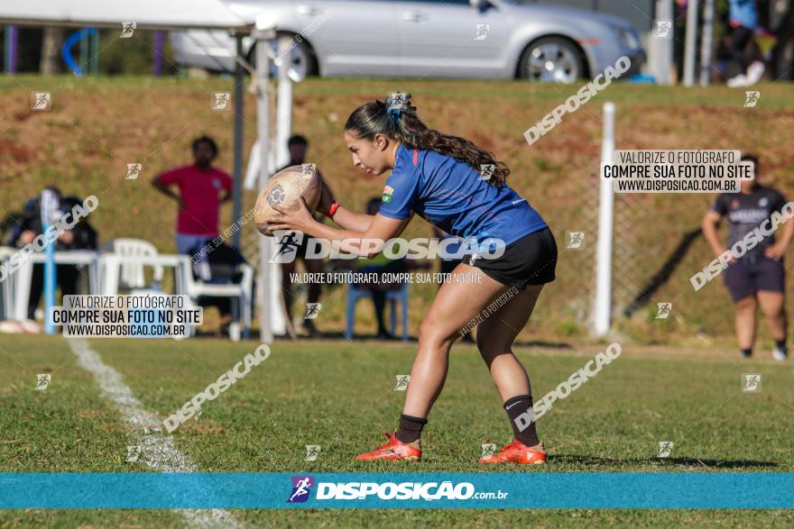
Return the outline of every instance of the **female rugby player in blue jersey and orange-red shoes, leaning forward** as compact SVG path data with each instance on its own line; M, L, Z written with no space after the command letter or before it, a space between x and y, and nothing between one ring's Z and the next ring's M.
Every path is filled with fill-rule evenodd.
M385 102L361 105L345 125L354 165L371 178L391 171L378 214L349 211L324 187L319 211L342 229L315 221L302 200L297 212L276 207L282 216L265 220L272 230L298 230L329 241L388 241L399 236L418 213L464 239L501 239L501 257L486 259L480 250L457 265L454 273L459 278L475 281L450 281L439 289L420 324L419 352L398 428L392 435L385 433L388 442L356 459L421 459L420 434L444 387L449 349L458 331L495 298L504 296L506 303L477 326L476 342L502 397L514 440L480 462L545 462L534 420L527 420L534 418L530 380L512 354L512 342L529 320L543 285L554 280L557 244L540 214L505 184L510 170L503 162L471 141L429 129L410 97L392 95ZM481 166L493 169L490 178L481 176ZM369 253L360 244L355 249Z

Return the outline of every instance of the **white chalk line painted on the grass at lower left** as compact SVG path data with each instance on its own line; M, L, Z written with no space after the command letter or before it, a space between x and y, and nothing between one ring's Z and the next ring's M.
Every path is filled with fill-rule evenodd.
M130 436L133 443L141 447L142 460L152 469L161 472L196 472L196 464L177 450L173 437L162 432L162 422L156 415L143 409L115 369L106 365L88 342L82 338L69 338L69 347L97 381L105 397L109 398L127 424L133 426ZM195 527L240 527L235 517L225 509L176 509L184 515L188 524Z

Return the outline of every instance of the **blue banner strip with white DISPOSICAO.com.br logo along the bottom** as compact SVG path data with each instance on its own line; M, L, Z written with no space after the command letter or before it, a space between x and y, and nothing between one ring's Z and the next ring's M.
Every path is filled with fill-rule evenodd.
M790 509L794 473L0 473L0 508Z

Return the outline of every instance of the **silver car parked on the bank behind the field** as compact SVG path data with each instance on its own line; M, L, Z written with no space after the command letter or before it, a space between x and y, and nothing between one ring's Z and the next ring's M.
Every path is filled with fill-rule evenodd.
M623 18L520 0L235 0L254 22L266 14L299 76L526 78L573 83L623 55L645 54ZM171 33L178 62L231 71L226 32ZM253 41L244 40L253 61Z

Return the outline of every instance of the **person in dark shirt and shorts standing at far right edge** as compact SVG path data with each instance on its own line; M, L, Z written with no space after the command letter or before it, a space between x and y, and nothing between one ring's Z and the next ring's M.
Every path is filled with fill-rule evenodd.
M780 212L787 200L772 187L758 182L758 159L744 155L743 161L751 161L755 168L755 179L743 180L741 193L724 193L716 198L714 205L703 218L703 234L716 255L726 249L717 236L716 229L723 217L728 219L728 245L742 241L759 224L770 218L773 212ZM775 348L775 360L786 360L786 311L784 304L783 254L794 235L794 223L783 223L775 233L759 240L741 258L729 261L725 269L725 285L731 293L736 306L736 340L742 356L752 356L752 342L755 339L756 307L770 325Z

